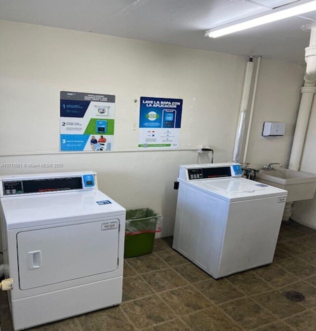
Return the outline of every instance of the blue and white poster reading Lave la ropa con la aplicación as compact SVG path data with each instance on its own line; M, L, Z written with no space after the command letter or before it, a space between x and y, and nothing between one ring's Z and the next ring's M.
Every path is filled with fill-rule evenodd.
M139 149L179 148L182 99L140 98Z

